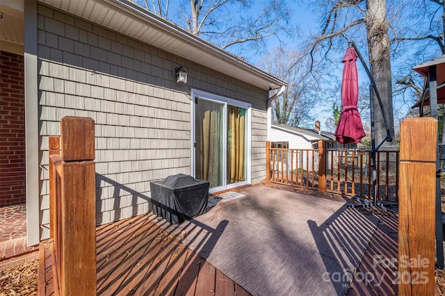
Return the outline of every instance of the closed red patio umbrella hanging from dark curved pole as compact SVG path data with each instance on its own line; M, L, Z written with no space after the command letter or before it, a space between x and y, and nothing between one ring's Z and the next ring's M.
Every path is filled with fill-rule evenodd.
M357 75L357 53L354 47L349 47L341 60L344 63L343 78L341 80L341 114L335 140L343 144L358 143L365 136L362 119L357 109L359 85Z

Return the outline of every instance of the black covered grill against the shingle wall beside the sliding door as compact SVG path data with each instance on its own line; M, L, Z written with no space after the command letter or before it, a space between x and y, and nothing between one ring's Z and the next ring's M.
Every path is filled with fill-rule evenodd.
M150 183L153 211L172 224L201 215L207 208L209 182L175 174Z

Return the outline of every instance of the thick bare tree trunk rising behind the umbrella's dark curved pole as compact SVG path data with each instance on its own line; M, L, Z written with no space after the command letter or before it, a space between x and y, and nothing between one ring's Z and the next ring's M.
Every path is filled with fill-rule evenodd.
M391 61L389 55L388 24L386 21L385 0L366 1L366 35L369 47L369 62L371 74L382 98L383 108L387 115L388 129L394 138L394 115L392 106L392 86L391 86ZM375 145L379 145L387 136L387 127L383 119L382 110L378 104L378 99L374 94L373 98L374 122L375 122ZM385 146L392 145L385 142Z

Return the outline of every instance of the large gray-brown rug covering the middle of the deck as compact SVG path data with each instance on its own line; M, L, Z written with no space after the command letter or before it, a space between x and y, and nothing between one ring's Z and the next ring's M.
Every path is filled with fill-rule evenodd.
M252 186L168 231L253 295L344 295L378 218L345 200Z

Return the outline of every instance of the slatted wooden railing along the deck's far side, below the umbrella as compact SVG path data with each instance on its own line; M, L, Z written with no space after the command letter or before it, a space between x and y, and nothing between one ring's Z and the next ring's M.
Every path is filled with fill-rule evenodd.
M301 188L317 189L348 196L370 197L371 153L366 150L280 149L266 145L266 178ZM377 196L380 200L398 201L399 152L376 153Z

